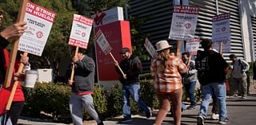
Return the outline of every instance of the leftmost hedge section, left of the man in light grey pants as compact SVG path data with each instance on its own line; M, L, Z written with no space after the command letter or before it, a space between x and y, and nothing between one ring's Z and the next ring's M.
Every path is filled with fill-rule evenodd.
M24 88L26 104L23 112L39 115L40 111L54 119L70 117L70 87L61 83L37 83L34 88Z

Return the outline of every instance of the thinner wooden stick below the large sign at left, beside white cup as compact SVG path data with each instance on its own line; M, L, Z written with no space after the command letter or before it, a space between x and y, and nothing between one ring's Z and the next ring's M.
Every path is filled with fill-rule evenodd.
M27 53L26 53L26 52L23 53L23 57L27 57ZM23 69L23 68L24 68L24 64L20 63L20 64L19 64L19 67L18 67L18 73L22 72L22 69ZM10 110L11 103L12 103L13 100L14 100L14 94L15 94L15 91L16 91L16 89L17 89L18 83L19 83L18 80L15 81L15 82L14 82L14 86L13 86L13 88L11 89L10 97L9 97L9 100L8 100L8 102L7 102L7 104L6 104L6 110L7 110L7 111Z

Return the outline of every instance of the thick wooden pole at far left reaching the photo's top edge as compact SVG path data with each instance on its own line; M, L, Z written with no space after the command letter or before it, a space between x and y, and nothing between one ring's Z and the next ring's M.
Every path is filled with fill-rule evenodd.
M19 11L18 11L18 18L17 18L16 22L24 21L27 2L28 2L28 0L21 0ZM5 78L5 82L3 85L4 88L10 87L10 81L13 76L14 64L15 64L16 56L17 56L17 52L18 52L18 42L19 42L19 38L14 41L13 48L11 49L11 52L10 52L10 61L8 64L8 68L6 70L6 78Z

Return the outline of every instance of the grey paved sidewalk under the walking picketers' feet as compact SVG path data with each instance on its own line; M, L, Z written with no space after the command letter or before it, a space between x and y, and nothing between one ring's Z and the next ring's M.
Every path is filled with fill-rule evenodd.
M238 99L234 97L228 97L226 100L228 118L230 119L230 125L255 125L256 124L256 94L248 96L246 99ZM197 114L199 105L194 110L186 110L182 112L182 125L196 125ZM210 119L211 106L208 110L208 118L206 119L206 125L218 124L218 120ZM145 115L133 115L133 121L130 123L118 123L118 120L122 117L115 117L113 119L106 119L105 125L153 125L157 111L153 112L153 117L146 119ZM22 118L18 121L19 125L65 125L64 123L47 123L40 121L39 119ZM173 118L167 116L162 124L172 124ZM94 121L86 121L85 125L97 125Z

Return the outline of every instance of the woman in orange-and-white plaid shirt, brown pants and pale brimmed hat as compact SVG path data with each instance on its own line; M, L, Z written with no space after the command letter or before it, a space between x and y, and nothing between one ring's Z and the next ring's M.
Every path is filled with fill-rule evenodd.
M174 125L180 125L182 119L182 76L187 72L186 64L178 57L170 55L171 45L167 41L156 43L158 57L150 65L154 77L154 88L160 103L154 124L160 125L170 111L170 102L174 111Z

